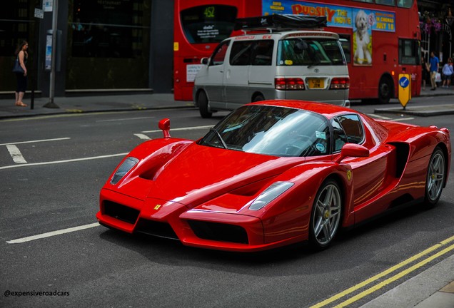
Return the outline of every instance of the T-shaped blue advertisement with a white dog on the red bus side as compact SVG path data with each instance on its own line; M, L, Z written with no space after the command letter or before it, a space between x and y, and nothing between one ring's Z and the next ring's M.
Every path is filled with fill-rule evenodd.
M326 16L327 26L348 28L353 31L353 65L372 65L373 31L395 32L395 13L365 10L351 6L311 3L306 1L263 0L263 15L298 14Z

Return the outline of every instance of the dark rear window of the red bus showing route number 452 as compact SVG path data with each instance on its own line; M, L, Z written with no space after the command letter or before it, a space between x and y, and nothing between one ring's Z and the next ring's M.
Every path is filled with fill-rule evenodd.
M195 6L181 11L181 28L189 43L218 43L231 35L236 15L235 6Z

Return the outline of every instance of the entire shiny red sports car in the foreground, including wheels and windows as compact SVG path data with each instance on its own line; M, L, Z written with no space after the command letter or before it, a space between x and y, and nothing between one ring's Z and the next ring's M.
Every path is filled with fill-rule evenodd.
M129 153L101 190L101 225L251 252L350 227L408 202L435 205L448 180L446 128L373 120L304 101L250 103L201 139Z

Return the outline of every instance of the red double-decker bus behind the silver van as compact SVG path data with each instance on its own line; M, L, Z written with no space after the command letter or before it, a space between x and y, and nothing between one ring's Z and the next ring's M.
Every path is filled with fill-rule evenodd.
M326 16L326 31L339 34L348 61L350 100L387 103L398 93L398 76L410 74L411 95L420 94L420 29L416 0L176 0L174 96L192 100L200 59L219 41L236 35L236 18L268 14ZM246 102L245 102L246 103Z

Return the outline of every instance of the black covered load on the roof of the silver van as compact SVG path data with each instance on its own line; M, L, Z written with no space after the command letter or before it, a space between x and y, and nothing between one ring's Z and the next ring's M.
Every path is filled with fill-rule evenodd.
M236 19L234 29L244 32L321 29L326 26L326 23L326 16L273 14Z

